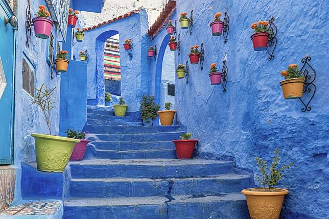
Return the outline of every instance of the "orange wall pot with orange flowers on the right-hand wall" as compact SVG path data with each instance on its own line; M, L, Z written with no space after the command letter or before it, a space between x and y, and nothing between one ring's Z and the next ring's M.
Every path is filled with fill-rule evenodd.
M281 71L281 76L285 77L285 80L280 81L284 98L301 98L303 96L305 78L302 77L302 72L298 69L298 65L289 65L287 70Z

